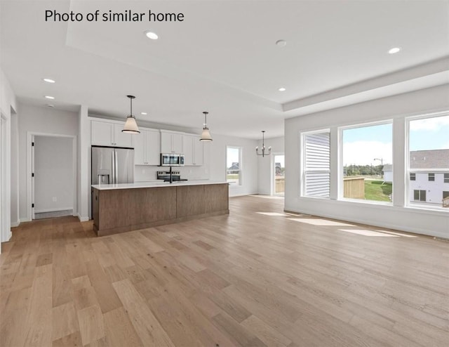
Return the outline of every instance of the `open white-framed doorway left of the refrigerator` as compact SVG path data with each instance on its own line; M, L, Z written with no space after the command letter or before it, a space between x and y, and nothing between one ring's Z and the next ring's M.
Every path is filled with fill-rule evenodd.
M29 134L31 218L76 215L76 139Z

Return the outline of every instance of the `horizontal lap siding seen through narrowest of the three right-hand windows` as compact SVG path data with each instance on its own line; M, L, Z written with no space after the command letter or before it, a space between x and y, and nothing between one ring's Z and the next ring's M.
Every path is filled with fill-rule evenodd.
M305 195L329 197L330 190L330 133L311 133L304 137Z

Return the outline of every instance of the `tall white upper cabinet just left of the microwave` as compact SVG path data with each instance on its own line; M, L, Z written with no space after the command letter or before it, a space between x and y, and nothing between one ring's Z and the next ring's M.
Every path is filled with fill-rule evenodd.
M140 134L135 136L134 141L134 164L159 165L160 143L159 130L140 128Z

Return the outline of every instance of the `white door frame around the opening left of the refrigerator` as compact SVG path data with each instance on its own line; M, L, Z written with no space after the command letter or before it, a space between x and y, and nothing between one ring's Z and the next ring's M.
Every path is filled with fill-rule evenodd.
M34 136L46 136L54 138L72 138L72 161L73 161L73 211L72 216L78 216L78 195L76 192L77 183L77 148L76 148L76 136L65 135L57 133L37 133L34 131L27 131L27 221L32 221L34 218L34 209L32 204L34 203L34 179L32 178L32 172L34 169L34 150L32 150L32 142Z

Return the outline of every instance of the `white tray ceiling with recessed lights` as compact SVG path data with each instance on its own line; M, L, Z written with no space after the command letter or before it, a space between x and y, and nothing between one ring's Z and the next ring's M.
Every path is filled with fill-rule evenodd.
M449 1L4 1L1 68L19 100L259 138L283 119L449 83ZM45 10L183 22L45 22ZM159 40L147 39L152 30ZM276 46L279 39L287 41ZM389 55L389 48L402 51ZM56 84L46 84L50 77ZM287 90L279 92L279 87ZM148 112L142 116L140 112Z

